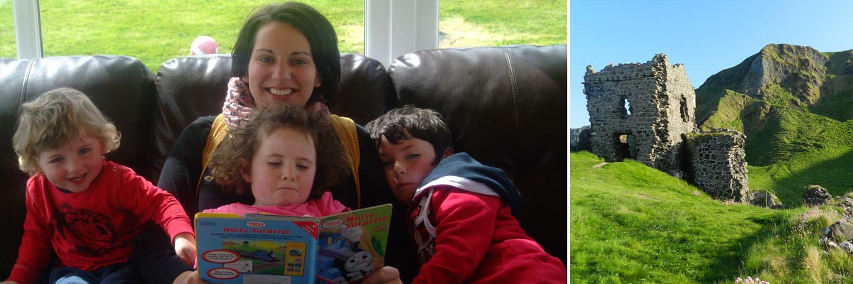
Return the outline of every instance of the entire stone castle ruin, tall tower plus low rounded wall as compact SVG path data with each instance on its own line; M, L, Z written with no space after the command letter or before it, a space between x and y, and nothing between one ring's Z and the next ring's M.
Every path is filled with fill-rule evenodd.
M608 162L635 159L717 199L746 199L745 136L697 133L696 94L682 64L659 54L599 72L589 66L583 86L593 154Z

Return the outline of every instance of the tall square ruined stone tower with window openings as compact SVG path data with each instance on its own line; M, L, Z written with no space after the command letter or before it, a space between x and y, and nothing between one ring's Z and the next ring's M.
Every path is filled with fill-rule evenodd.
M646 63L587 67L583 93L592 152L607 161L635 159L681 176L683 133L695 131L695 93L681 64L666 55ZM620 141L620 136L629 136Z

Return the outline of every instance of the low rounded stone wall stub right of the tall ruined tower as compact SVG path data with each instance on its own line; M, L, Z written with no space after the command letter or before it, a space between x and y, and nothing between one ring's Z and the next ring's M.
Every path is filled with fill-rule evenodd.
M718 200L744 201L747 187L746 136L722 129L688 136L692 179L696 187Z

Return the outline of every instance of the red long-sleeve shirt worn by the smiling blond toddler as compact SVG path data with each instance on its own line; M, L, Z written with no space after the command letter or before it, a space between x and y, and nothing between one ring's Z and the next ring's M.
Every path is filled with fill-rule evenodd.
M58 265L87 271L123 263L149 220L172 240L194 234L171 194L124 165L104 160L98 177L80 193L62 192L44 175L30 177L24 237L8 280L37 281L54 252Z

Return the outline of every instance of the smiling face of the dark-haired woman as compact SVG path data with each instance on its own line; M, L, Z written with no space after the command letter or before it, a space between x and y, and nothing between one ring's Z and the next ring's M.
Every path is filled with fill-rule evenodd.
M305 107L321 84L311 45L295 26L270 21L258 29L247 75L255 107L275 104Z

